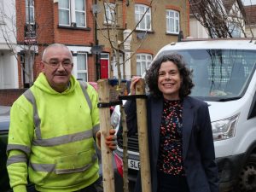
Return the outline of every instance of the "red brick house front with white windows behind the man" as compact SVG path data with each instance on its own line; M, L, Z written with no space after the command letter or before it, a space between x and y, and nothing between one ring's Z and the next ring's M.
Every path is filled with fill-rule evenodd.
M14 85L0 86L1 89L12 92L11 89L29 87L40 73L39 64L45 47L53 43L66 44L73 52L75 78L96 81L95 55L91 54L91 48L95 44L94 17L91 12L93 0L12 1L16 11L18 49L16 72L11 71L9 76L16 76L15 79L18 80ZM16 94L18 92L16 91ZM3 93L4 91L1 91L1 96ZM9 93L5 98L8 98L8 95ZM2 100L0 105L6 105L5 103L9 102Z

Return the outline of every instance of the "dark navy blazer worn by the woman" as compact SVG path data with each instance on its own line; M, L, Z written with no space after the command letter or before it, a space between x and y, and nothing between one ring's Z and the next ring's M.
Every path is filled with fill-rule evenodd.
M163 98L148 96L148 145L152 192L157 192L157 160ZM136 102L125 103L128 134L137 132ZM212 139L212 125L206 102L190 96L183 99L183 163L190 192L218 192L218 167ZM136 192L142 191L140 174Z

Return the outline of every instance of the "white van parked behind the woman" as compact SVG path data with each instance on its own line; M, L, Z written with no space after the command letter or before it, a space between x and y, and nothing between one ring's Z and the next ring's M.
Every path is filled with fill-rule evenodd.
M209 105L220 190L256 191L256 42L251 39L183 40L167 44L160 55L178 53L193 69L195 96ZM119 107L112 114L119 128ZM122 167L121 127L114 154ZM139 169L137 135L129 137L129 179Z

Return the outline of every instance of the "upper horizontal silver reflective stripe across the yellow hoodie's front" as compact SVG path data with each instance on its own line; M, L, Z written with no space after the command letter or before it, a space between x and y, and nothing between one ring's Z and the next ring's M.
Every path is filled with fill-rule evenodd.
M37 146L44 146L44 147L49 147L49 146L55 146L55 145L61 145L65 143L73 143L77 141L84 140L86 138L92 137L92 131L82 131L66 136L60 136L60 137L53 137L49 139L34 139L32 141L33 145Z

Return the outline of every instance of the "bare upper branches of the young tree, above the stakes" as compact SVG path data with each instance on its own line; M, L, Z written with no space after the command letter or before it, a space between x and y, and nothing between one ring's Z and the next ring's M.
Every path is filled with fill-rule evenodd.
M148 9L152 8L152 5L157 3L158 0L150 0L148 1ZM126 5L129 6L130 1L126 0L125 1ZM103 38L108 40L108 43L111 47L112 54L115 57L115 66L117 67L118 71L118 79L119 79L119 84L121 83L122 79L122 74L121 74L121 67L125 65L126 61L131 60L131 57L135 55L134 53L136 52L137 49L141 47L143 44L143 40L140 42L140 44L137 45L137 48L133 48L132 50L129 50L131 53L131 56L129 58L126 58L125 61L120 62L119 61L119 53L124 53L125 51L125 42L127 39L131 38L132 33L136 31L137 26L140 24L142 20L145 19L145 15L148 12L148 9L145 11L144 15L142 16L141 20L138 20L138 22L133 26L132 29L125 35L125 38L122 36L122 32L125 30L119 25L120 20L122 20L122 13L119 14L119 11L122 11L120 8L123 6L122 1L109 1L109 0L104 0L102 2L103 7L100 7L100 4L96 5L96 8L94 9L94 15L96 19L96 30L100 32ZM108 13L107 13L108 12ZM104 14L105 16L105 26L101 25L100 20L96 17L97 14ZM119 22L118 22L119 21ZM149 29L148 29L149 30ZM145 36L148 31L145 32ZM125 75L125 74L123 74Z

